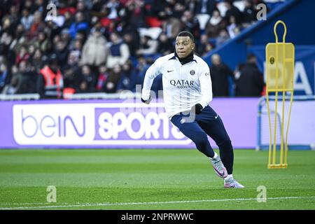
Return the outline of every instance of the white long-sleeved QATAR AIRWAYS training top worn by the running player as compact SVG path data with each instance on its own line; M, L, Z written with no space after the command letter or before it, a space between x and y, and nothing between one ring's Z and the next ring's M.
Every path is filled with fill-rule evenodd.
M189 111L195 104L204 108L212 100L210 69L201 57L194 55L193 61L181 64L174 53L155 60L144 77L141 97L150 98L153 80L162 74L163 97L167 117Z

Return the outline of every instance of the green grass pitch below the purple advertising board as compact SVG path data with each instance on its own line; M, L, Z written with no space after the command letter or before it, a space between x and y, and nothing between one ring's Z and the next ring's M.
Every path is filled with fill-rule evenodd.
M223 188L197 150L0 150L0 209L315 209L315 151L267 169L267 151L235 150L234 170L244 189Z

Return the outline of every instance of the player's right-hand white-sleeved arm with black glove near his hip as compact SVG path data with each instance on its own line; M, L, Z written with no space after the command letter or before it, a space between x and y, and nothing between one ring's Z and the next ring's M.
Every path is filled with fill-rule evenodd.
M212 100L212 82L210 76L209 66L205 66L205 69L200 73L200 88L202 97L200 102L194 106L195 113L199 114Z

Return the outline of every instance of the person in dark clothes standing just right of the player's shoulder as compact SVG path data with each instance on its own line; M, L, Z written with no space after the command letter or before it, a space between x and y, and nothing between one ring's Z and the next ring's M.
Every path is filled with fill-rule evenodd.
M218 54L212 55L211 63L210 73L214 97L228 97L228 77L233 78L233 71L221 61L221 57Z

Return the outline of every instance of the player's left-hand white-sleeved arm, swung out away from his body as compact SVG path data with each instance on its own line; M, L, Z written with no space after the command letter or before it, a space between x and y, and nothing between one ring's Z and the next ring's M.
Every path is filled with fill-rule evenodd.
M151 86L153 84L153 80L156 76L160 74L160 68L158 66L158 61L152 64L148 70L146 70L146 75L144 76L144 85L141 93L141 101L145 104L150 104L151 102Z

